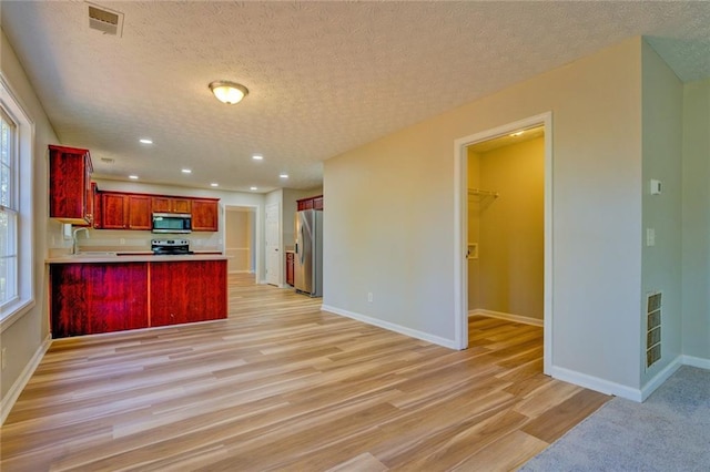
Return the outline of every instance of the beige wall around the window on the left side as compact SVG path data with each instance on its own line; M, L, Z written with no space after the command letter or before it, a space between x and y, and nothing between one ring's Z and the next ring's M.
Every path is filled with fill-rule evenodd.
M17 382L21 380L32 358L42 351L42 343L49 336L48 300L45 297L48 271L44 267L44 258L48 254L48 240L60 236L61 225L49 220L47 198L47 145L57 144L59 141L4 33L0 34L0 70L26 113L34 122L34 240L21 242L20 244L33 245L33 267L22 267L21 269L33 271L36 304L12 325L1 325L0 346L6 350L7 356L7 367L0 371L0 396L4 406L9 394L17 392ZM4 414L6 411L2 413Z

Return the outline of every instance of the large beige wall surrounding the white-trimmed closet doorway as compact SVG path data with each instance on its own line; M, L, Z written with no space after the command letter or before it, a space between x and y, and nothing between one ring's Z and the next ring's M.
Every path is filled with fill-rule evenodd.
M641 43L627 40L326 161L325 307L452 345L454 142L551 111L552 370L637 393Z

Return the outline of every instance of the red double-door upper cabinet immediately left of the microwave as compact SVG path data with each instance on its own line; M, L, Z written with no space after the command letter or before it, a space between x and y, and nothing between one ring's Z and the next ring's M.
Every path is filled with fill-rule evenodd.
M151 229L151 197L101 192L101 229Z

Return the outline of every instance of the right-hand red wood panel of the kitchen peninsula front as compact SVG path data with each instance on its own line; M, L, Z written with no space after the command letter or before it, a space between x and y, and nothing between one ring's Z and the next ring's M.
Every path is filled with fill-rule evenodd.
M226 260L150 264L151 326L226 318Z

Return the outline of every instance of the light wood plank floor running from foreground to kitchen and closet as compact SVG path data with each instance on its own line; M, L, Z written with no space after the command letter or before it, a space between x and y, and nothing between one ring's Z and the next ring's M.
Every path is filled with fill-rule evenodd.
M515 470L609 397L542 370L541 328L454 351L230 276L226 320L55 340L0 469Z

